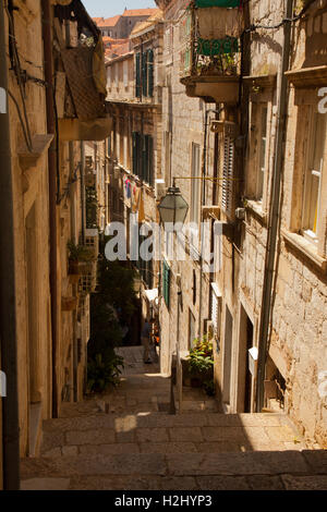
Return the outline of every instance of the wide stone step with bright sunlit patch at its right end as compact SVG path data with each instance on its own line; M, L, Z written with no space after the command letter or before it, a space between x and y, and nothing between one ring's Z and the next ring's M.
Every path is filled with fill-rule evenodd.
M100 451L102 446L106 446L106 452L113 453L116 446L124 443L136 453L146 451L146 447L150 452L173 452L173 444L179 443L184 443L185 451L203 453L221 450L300 450L305 447L296 439L287 417L278 414L242 416L148 413L45 422L41 453L47 456L65 456L82 453L85 447L96 447L88 448L94 453L96 450ZM117 450L124 451L122 447Z

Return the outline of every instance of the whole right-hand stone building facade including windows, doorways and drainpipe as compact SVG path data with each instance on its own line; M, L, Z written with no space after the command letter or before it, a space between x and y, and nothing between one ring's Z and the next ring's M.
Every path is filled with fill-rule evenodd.
M211 240L217 267L209 275L207 285L206 276L201 276L205 296L193 312L196 321L209 318L214 322L217 398L227 413L255 412L263 406L283 409L305 436L326 447L326 393L322 390L327 361L327 143L326 89L323 90L327 83L327 5L324 1L280 1L272 7L268 1L253 1L239 10L240 2L232 2L228 7L235 11L234 32L228 35L242 38L242 46L229 53L232 66L229 57L221 70L215 53L208 53L205 46L197 54L192 53L196 42L194 33L192 39L192 32L186 28L189 46L178 35L184 25L183 16L192 12L203 31L201 37L213 44L208 17L201 19L206 2L196 0L191 2L191 10L185 10L189 3L157 2L164 9L167 32L170 32L170 42L165 48L169 44L180 48L179 56L175 52L178 62L171 62L171 81L177 84L173 93L179 92L178 105L171 108L171 123L178 125L179 112L185 112L185 119L179 126L179 136L172 136L174 175L179 169L184 175L190 173L182 167L189 157L184 144L190 139L187 127L195 143L197 136L198 144L203 141L201 117L195 118L199 110L194 108L196 101L205 110L214 100L219 112L213 126L218 132L217 154L214 151L213 156L217 168L214 164L211 172L219 179L213 204L219 208L216 225L222 236ZM207 8L211 9L216 28L221 25L218 16L220 13L221 20L222 3L217 2L214 9L214 2ZM226 15L231 15L231 11ZM293 21L289 23L286 19ZM173 20L171 25L169 20ZM202 65L197 71L192 68L195 62ZM286 86L282 77L287 77ZM168 69L166 78L170 80ZM184 86L181 89L180 78ZM193 99L194 96L205 103ZM164 94L164 126L165 110ZM186 119L192 122L186 124ZM215 147L215 143L207 142L207 147ZM177 184L182 188L182 183ZM187 199L187 188L182 192ZM210 194L206 200L209 197ZM274 218L278 219L275 240L270 234L276 225ZM190 302L187 290L193 282L192 267L183 279L185 268L183 264L179 272L183 308ZM178 312L175 295L172 291L172 315ZM172 326L170 350L166 351L169 354L175 344L177 320L166 309L161 314L165 330ZM191 317L190 322L184 313L180 322L181 332L185 333L194 319ZM205 332L205 325L199 326L199 332ZM182 339L180 336L181 348ZM164 365L169 368L169 363ZM262 404L261 393L264 394Z

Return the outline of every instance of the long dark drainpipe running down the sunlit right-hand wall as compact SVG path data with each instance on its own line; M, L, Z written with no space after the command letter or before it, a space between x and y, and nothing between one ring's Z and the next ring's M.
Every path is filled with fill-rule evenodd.
M284 17L291 20L293 13L293 0L287 1ZM283 142L287 121L288 107L288 81L284 75L289 69L290 48L291 48L291 22L288 21L283 28L283 48L279 75L279 98L277 112L277 131L275 145L275 164L270 193L270 211L267 236L267 249L264 273L263 303L259 327L259 346L258 346L258 369L256 388L256 411L259 413L264 407L265 399L265 369L268 353L269 324L271 318L271 293L274 281L274 268L276 257L276 246L278 237L279 211L280 211L280 188L283 164Z

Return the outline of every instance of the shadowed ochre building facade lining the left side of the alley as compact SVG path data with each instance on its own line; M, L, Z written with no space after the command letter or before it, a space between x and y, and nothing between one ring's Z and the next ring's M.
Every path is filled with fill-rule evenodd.
M105 139L111 126L105 95L88 76L88 82L80 83L80 93L85 87L94 103L86 102L84 112L78 103L78 73L72 71L70 58L74 52L83 73L85 51L94 52L95 46L83 48L81 24L86 23L94 31L95 41L98 33L78 0L71 2L69 15L68 3L26 0L20 9L12 9L12 2L8 2L0 13L4 19L8 71L8 85L1 92L7 93L11 142L16 321L13 342L17 351L14 364L12 359L5 366L8 361L1 361L10 383L1 410L19 407L15 431L21 456L38 453L44 419L56 417L65 401L83 397L89 293L96 285L96 275L95 280L85 282L85 275L72 272L68 243L86 245L94 254L96 271L98 231L90 232L85 223L84 141L92 139L90 133L94 138ZM1 10L2 7L1 2ZM52 58L53 69L47 74L47 63ZM98 76L101 72L105 75L104 56L98 61ZM50 84L53 75L56 81ZM49 112L55 112L53 131ZM105 203L106 176L98 174L98 195ZM106 220L99 219L98 225L100 222ZM1 339L1 343L7 342ZM14 367L16 375L12 373ZM19 404L11 395L15 378ZM5 416L10 416L9 409ZM5 428L0 467L2 447L5 451L10 441L8 425L3 424ZM16 462L12 460L11 467Z

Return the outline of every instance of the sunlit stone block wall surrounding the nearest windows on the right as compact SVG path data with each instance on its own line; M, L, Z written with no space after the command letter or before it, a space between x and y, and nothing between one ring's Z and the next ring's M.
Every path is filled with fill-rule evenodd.
M253 23L271 25L283 16L283 3L274 7L269 2L252 2L251 17ZM308 10L304 22L293 26L292 35L292 69L311 68L326 64L324 51L324 19L326 2L315 2ZM270 14L269 14L270 13ZM324 17L325 16L325 17ZM326 27L325 27L326 31ZM311 38L320 37L319 57L314 50ZM318 45L317 40L313 41ZM282 28L279 31L257 31L252 35L252 75L278 73L282 45ZM278 84L277 77L277 84ZM259 85L259 82L257 83ZM242 404L238 397L244 389L240 380L240 354L242 339L242 322L240 302L246 304L250 319L254 322L253 344L258 344L258 329L255 327L262 313L262 294L264 265L267 240L267 219L271 176L275 161L275 133L278 88L266 86L251 92L252 119L246 162L245 195L253 199L252 180L256 161L255 148L258 144L254 115L255 105L268 101L268 178L265 182L263 202L249 200L246 218L243 227L241 258L235 257L234 292L230 284L230 264L225 257L223 303L229 304L233 320L234 355L232 361L231 382L233 387L232 411L241 411ZM305 166L305 144L308 132L308 108L317 106L318 85L312 80L306 86L290 85L288 92L288 123L286 133L286 158L281 188L281 227L278 233L277 260L272 292L272 321L269 357L286 380L284 410L292 419L302 427L303 434L326 446L326 399L318 393L318 374L326 368L326 297L327 280L325 275L324 245L325 234L320 231L315 247L300 234L301 211L304 202L303 170ZM316 107L315 107L316 108ZM324 168L325 169L325 168ZM246 188L247 187L247 188ZM325 174L322 184L322 197L326 196ZM323 199L323 204L326 202ZM320 215L326 215L323 208ZM300 220L299 220L300 219ZM232 246L229 244L227 253ZM319 257L320 252L320 257ZM239 260L239 263L238 263ZM223 336L223 334L222 334ZM223 350L222 350L223 358ZM221 373L223 374L223 363ZM268 375L268 374L267 374ZM217 377L221 382L223 376ZM269 377L268 377L269 378ZM223 386L223 385L222 385Z

